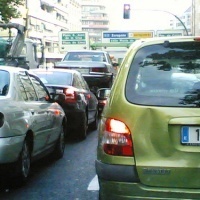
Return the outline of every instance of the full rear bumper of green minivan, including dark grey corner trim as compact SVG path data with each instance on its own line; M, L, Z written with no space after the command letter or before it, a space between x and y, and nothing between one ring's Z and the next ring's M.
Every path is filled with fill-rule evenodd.
M200 189L159 188L139 182L134 166L111 165L95 161L101 200L186 200L199 199Z

